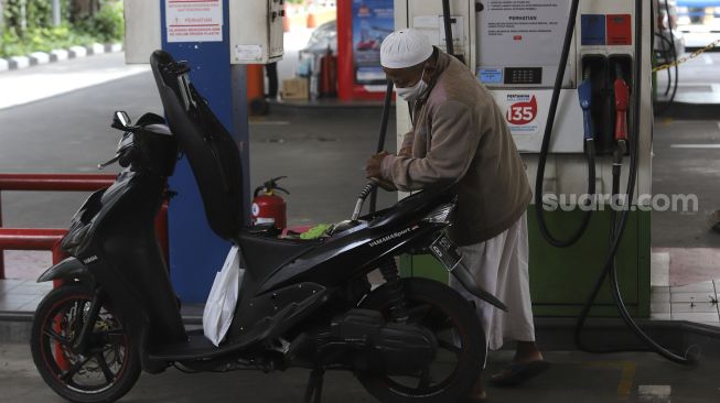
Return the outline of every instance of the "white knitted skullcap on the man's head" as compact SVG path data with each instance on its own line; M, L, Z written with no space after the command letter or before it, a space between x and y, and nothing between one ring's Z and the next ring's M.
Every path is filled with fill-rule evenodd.
M393 32L380 45L380 65L387 68L412 67L431 55L432 45L428 37L410 28Z

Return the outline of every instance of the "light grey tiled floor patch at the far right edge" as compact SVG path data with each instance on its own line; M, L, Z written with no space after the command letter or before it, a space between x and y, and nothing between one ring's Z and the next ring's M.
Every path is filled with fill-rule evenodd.
M720 280L680 286L653 286L653 319L699 322L720 326L718 292Z

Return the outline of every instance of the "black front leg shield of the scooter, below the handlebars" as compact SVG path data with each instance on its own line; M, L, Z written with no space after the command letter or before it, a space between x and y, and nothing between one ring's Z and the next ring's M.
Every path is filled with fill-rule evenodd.
M151 346L182 341L186 335L153 227L164 181L135 174L118 187L79 258L121 315L136 324L147 320Z

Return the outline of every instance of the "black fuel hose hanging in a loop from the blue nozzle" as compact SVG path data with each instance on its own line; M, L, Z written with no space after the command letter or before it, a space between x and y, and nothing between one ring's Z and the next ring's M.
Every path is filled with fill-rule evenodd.
M570 44L572 42L572 35L574 33L576 20L578 17L578 4L579 0L572 0L570 6L570 14L568 17L568 25L565 33L565 40L562 43L562 53L560 55L560 64L558 66L558 74L555 77L555 86L552 88L552 98L550 100L550 110L548 111L547 124L545 127L545 133L542 134L542 145L540 146L540 154L537 165L537 176L535 178L535 215L537 216L538 228L542 238L545 238L551 246L556 248L566 248L576 243L580 237L584 233L588 225L590 222L590 217L592 215L592 209L588 209L583 214L582 221L580 226L572 232L572 235L567 239L559 239L555 237L547 224L545 222L545 209L542 208L542 182L545 177L545 165L547 163L548 152L550 150L550 140L552 139L552 126L555 123L555 116L558 110L558 102L560 100L560 89L562 88L562 78L565 77L566 66L568 64L568 57L570 54ZM585 150L588 156L588 194L594 195L595 193L595 178L594 178L594 155ZM590 166L592 165L592 166Z

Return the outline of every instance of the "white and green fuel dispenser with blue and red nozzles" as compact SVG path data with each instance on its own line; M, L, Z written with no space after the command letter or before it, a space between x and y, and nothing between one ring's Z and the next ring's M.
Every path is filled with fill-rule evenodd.
M443 2L449 6L444 20ZM396 0L395 25L420 30L443 51L452 43L505 112L528 179L536 184L528 208L535 314L583 312L615 243L609 230L620 229L622 217L610 208L613 179L620 186L633 176L635 208L623 215L613 261L630 312L649 316L651 213L636 208L637 195L651 194L649 2L443 2ZM646 18L638 19L636 7ZM407 108L397 108L397 127L400 135L409 130ZM631 143L636 146L632 161L626 157ZM616 198L624 193L619 187ZM402 269L406 275L445 275L422 255L405 258ZM599 288L589 314L617 315L611 291Z

